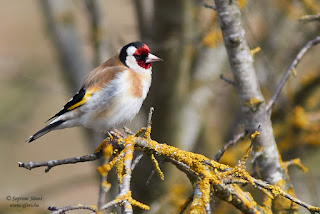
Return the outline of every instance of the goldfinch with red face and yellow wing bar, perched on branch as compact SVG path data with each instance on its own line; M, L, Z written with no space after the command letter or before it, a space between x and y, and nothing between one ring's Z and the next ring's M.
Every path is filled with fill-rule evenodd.
M136 116L145 100L152 63L162 61L140 42L123 46L118 53L93 69L80 90L52 116L48 125L30 136L30 143L53 131L77 126L107 133Z

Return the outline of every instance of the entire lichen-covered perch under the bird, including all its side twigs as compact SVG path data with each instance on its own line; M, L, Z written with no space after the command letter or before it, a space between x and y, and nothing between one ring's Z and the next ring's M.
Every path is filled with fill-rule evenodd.
M110 135L110 137L102 143L101 147L97 149L97 152L94 155L82 156L82 161L94 160L100 157L103 157L106 160L105 164L99 166L97 169L102 177L107 177L110 170L114 167L116 168L116 175L120 186L119 195L114 200L103 204L100 208L94 205L83 204L61 208L50 207L49 210L53 211L52 214L65 213L77 209L88 209L96 213L101 213L101 211L116 206L122 208L122 213L132 213L132 206L137 206L145 210L150 209L149 206L136 201L131 196L131 168L133 152L135 150L151 156L154 167L160 176L163 176L163 174L153 155L164 158L188 176L195 187L193 197L189 198L188 202L185 204L185 206L187 206L191 203L190 213L210 213L211 208L209 204L211 194L234 205L244 213L265 213L264 208L268 204L265 203L264 206L258 205L250 193L242 190L239 184L250 184L255 188L261 189L269 198L271 198L268 202L272 202L275 197L285 197L293 203L297 203L307 208L310 212L320 211L319 207L302 202L278 186L253 178L246 171L245 162L250 154L254 140L256 141L258 139L258 132L250 135L252 143L246 154L239 161L239 164L235 167L230 167L211 160L204 155L183 151L176 147L160 144L152 140L150 137L151 115L152 109L149 113L148 126L142 128L137 134L129 135L126 138L122 138L116 134ZM82 162L80 161L80 158L70 158L56 162L59 162L61 165L75 163L75 161ZM298 161L295 162L297 162L296 164L299 164ZM46 162L46 164L43 163L44 162L38 162L38 164L31 164L29 167L32 169L40 166L48 166L48 162ZM27 167L28 163L24 164L25 166L23 167ZM102 182L101 186L104 188L105 192L111 188L111 184L107 181ZM184 209L185 207L182 210Z

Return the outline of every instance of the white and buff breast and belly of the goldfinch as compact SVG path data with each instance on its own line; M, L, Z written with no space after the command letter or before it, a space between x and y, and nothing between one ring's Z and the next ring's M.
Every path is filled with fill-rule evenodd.
M87 127L99 131L110 130L130 122L139 112L151 84L151 75L128 70L116 76L92 96L95 109L89 113Z

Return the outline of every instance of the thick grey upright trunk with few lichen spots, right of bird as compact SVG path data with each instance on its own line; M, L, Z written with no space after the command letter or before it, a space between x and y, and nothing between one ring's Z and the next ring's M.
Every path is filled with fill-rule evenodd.
M278 184L294 194L289 176L281 166L281 157L273 135L270 117L256 77L253 58L250 54L245 31L241 23L238 1L215 0L218 20L227 49L229 63L234 75L246 130L253 132L261 127L260 136L253 147L253 166L260 177ZM283 211L294 210L291 203L277 206ZM280 211L280 210L279 210Z

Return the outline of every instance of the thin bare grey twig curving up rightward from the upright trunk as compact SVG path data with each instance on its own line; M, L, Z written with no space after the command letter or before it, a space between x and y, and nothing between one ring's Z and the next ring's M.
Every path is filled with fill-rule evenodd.
M280 84L278 85L276 92L274 93L274 95L271 97L271 99L269 100L267 106L266 106L266 110L268 111L268 113L271 113L272 110L272 106L275 104L276 99L278 98L284 84L286 83L286 81L288 80L291 72L298 66L300 60L302 59L302 57L305 55L305 53L312 47L315 46L316 44L318 44L320 42L320 36L310 40L298 53L298 55L296 56L296 58L293 60L293 62L291 63L291 65L289 66L289 68L287 69L287 71L285 72L285 74L283 75Z

